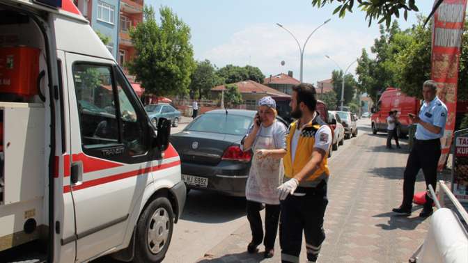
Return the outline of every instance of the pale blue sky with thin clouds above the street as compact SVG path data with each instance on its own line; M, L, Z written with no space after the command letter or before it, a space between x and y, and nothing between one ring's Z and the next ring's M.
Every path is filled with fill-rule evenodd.
M366 48L370 53L379 35L377 24L368 27L365 13L354 10L344 19L331 15L336 3L325 8L313 8L311 0L238 0L182 1L146 0L155 8L169 6L192 29L192 44L197 60L209 59L217 67L226 64L253 65L265 76L292 70L299 79L299 48L295 40L276 23L283 24L295 34L301 45L309 33L326 19L331 21L316 31L304 51L304 82L315 83L329 79L336 64L342 68ZM428 15L430 0L416 0L420 13ZM408 21L399 19L405 29L416 23L416 13ZM281 61L285 65L281 66ZM355 64L350 67L354 74Z

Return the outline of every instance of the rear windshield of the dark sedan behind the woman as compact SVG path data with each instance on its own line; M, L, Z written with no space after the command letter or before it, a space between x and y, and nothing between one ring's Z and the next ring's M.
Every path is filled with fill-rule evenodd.
M204 114L187 127L187 131L214 132L217 134L244 135L252 118L242 115Z

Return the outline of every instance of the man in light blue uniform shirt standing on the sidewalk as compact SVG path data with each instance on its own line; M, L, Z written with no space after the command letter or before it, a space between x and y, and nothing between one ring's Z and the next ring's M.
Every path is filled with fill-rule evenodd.
M407 160L403 181L403 202L393 212L398 214L411 214L414 195L414 183L416 175L422 168L426 189L429 184L435 191L437 182L437 163L440 157L440 138L444 135L444 127L447 119L447 107L437 96L437 84L428 80L423 83L424 102L419 115L410 113L409 118L417 124L416 139ZM432 199L426 193L426 203L421 217L432 214Z

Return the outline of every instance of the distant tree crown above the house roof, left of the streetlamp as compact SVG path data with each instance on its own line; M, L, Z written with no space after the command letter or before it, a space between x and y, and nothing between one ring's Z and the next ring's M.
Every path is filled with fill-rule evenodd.
M224 79L224 83L236 83L239 81L252 80L258 83L263 83L265 75L258 67L246 65L245 67L239 67L236 65L226 65L221 67L217 71L217 75Z

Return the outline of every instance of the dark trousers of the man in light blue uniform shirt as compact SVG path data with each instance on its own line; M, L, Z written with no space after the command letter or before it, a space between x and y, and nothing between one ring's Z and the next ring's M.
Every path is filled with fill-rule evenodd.
M426 189L429 185L435 191L437 183L437 163L440 157L440 140L415 140L413 148L409 153L406 163L403 181L403 204L402 206L411 209L414 196L414 183L416 175L423 169ZM424 209L432 209L432 199L426 193L426 204Z

